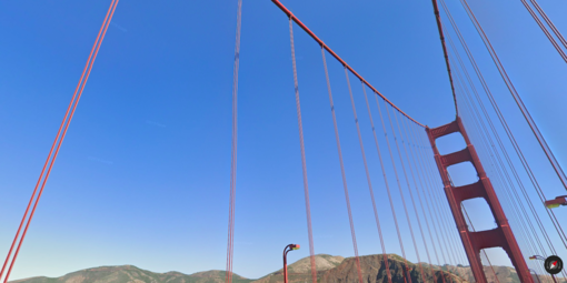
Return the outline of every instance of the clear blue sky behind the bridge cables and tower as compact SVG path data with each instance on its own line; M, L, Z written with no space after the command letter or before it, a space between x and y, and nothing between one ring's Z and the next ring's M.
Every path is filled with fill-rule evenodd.
M567 32L567 3L539 2ZM2 261L109 3L0 2ZM416 120L430 127L452 121L430 1L282 3ZM546 194L565 194L460 4L448 4ZM470 4L567 166L567 64L520 1ZM12 280L119 264L155 272L225 269L236 11L236 0L119 2ZM315 251L352 256L320 49L297 26L295 33ZM233 271L258 277L280 269L286 244L302 245L290 261L309 250L287 18L271 1L245 0L241 42ZM327 60L359 253L380 253L345 75ZM351 83L387 249L399 254L360 85L352 77ZM439 146L459 150L452 141ZM464 178L457 170L454 179ZM404 220L392 179L390 184ZM531 186L528 191L537 198ZM480 204L467 205L485 229L493 228ZM563 223L565 212L556 213ZM408 260L415 262L401 223ZM556 249L567 257L558 242ZM509 264L501 252L490 256L493 264Z

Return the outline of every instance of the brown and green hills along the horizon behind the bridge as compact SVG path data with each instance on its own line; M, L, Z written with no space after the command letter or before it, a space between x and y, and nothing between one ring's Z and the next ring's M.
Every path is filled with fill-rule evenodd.
M397 254L387 254L388 269L390 270L392 283L405 283L404 269L405 260ZM332 256L329 254L318 254L315 256L317 281L319 283L358 283L358 272L355 257ZM366 283L388 283L386 264L382 254L359 256L362 279ZM465 283L475 282L472 273L468 266L444 265L442 267L427 263L419 264L408 262L410 271L410 282L422 283L421 269L426 282ZM435 280L431 275L434 270ZM494 272L493 272L494 269ZM485 266L488 282L499 283L519 283L516 271L509 266ZM289 283L309 283L311 282L311 262L310 257L304 257L288 265ZM496 280L495 274L498 280ZM100 266L71 272L60 277L30 277L10 281L9 283L225 283L226 272L219 270L197 272L193 274L183 274L180 272L155 273L142 270L133 265L120 266ZM549 280L548 275L539 275L541 282ZM558 283L567 283L559 279ZM233 283L281 283L284 282L282 270L271 272L258 280L246 279L233 274ZM534 277L534 282L538 280Z

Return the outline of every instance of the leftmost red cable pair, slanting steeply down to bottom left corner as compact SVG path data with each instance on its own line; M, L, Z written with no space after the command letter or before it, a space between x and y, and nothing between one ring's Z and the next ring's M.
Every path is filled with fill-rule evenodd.
M12 244L10 246L10 250L8 252L6 261L4 261L3 265L2 265L2 270L0 270L0 280L1 280L2 274L4 272L4 269L6 269L7 264L8 264L8 262L10 261L10 256L12 254L12 250L13 250L16 243L18 242L18 237L20 235L21 228L23 226L23 223L28 219L26 228L23 229L23 233L22 233L22 235L20 237L20 241L18 243L18 247L16 249L16 252L14 252L14 254L12 256L12 260L11 260L11 263L10 263L10 267L8 269L8 272L7 272L6 276L4 276L4 283L7 283L8 279L10 277L10 273L12 271L12 267L13 267L14 263L16 263L16 259L18 257L18 254L20 252L20 247L21 247L21 245L23 243L23 240L24 240L26 234L28 232L28 229L29 229L29 225L30 225L31 220L33 218L33 214L36 213L36 209L37 209L39 200L41 199L41 195L43 193L43 189L44 189L46 183L47 183L47 181L49 179L49 175L51 173L51 169L53 168L53 163L56 162L57 155L59 153L59 150L61 148L63 139L64 139L64 137L67 134L67 130L69 129L69 124L71 123L71 120L73 118L74 111L76 111L77 105L79 103L79 100L80 100L80 98L82 95L82 91L84 89L84 85L87 84L87 80L89 79L90 71L92 70L92 64L94 63L94 60L97 59L97 54L99 52L100 46L101 46L102 40L105 39L105 36L107 33L108 26L110 24L110 21L112 20L112 16L115 14L115 10L116 10L116 7L118 4L118 1L119 0L112 0L110 2L110 7L108 8L107 16L105 17L105 20L102 21L102 26L100 27L99 33L97 34L97 39L94 40L94 43L93 43L92 49L90 51L90 54L89 54L89 58L88 58L87 63L84 65L84 69L82 70L82 74L81 74L81 78L79 79L79 83L77 84L77 88L74 89L74 93L72 95L72 99L69 102L69 107L67 108L67 112L64 113L63 121L61 122L61 125L59 127L59 130L58 130L57 135L56 135L56 140L53 141L53 144L51 145L51 150L49 151L48 159L46 160L46 163L43 164L43 169L41 170L41 174L39 176L39 180L36 183L36 188L33 189L33 193L31 195L30 202L28 203L28 208L26 209L26 212L24 212L23 218L22 218L22 220L20 222L20 225L18 228L16 236L14 236L14 239L12 241ZM61 133L61 130L62 130L62 133ZM53 153L53 149L54 149L54 153ZM53 153L53 155L51 155L52 153ZM46 172L46 169L47 169L47 173L43 176L43 173ZM39 189L39 193L37 194L37 199L36 199L36 193L38 192L38 188L39 188L40 183L41 183L41 188ZM33 202L33 199L36 199L34 202ZM30 213L30 215L28 218L28 212L29 212L29 209L30 209L32 202L33 202L33 208L32 208L31 213Z

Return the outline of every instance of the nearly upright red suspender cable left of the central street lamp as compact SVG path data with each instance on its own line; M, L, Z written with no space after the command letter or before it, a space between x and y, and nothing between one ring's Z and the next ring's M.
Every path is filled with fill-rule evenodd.
M232 259L235 252L235 206L236 206L236 173L237 173L237 141L238 141L238 68L240 64L240 30L242 22L242 0L238 0L237 34L235 44L235 68L232 74L232 154L230 163L230 204L228 221L227 273L226 282L232 282Z

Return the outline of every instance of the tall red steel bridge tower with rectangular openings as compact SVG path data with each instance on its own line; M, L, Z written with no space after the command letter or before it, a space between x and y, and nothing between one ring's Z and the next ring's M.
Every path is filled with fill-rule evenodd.
M446 155L439 154L439 151L435 144L435 140L456 131L462 134L462 138L467 143L467 148L456 153ZM480 159L478 158L475 148L470 143L460 118L457 117L456 121L439 128L426 128L426 132L429 138L429 142L431 143L435 161L444 182L447 201L449 202L457 229L459 230L462 245L467 252L467 257L476 282L487 283L487 279L483 270L483 263L480 261L480 250L498 246L504 249L510 257L519 280L523 283L533 283L534 280L529 274L528 266L524 260L521 251L519 250L518 243L516 242L516 237L514 236L514 233L508 224L506 214L504 213L490 180L485 173L483 164L480 163ZM466 161L470 161L472 163L480 180L477 183L469 185L452 186L449 180L447 168L452 164ZM470 232L468 230L468 225L465 221L460 205L462 201L474 198L483 198L486 200L498 225L496 229L480 232Z

